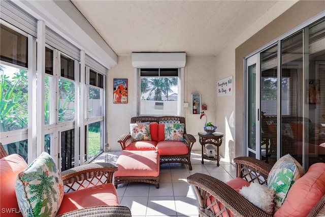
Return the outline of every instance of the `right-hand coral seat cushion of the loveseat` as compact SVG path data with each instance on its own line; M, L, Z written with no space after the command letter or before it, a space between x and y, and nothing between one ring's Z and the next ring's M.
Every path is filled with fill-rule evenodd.
M187 154L188 147L180 141L161 141L158 142L156 150L160 156Z

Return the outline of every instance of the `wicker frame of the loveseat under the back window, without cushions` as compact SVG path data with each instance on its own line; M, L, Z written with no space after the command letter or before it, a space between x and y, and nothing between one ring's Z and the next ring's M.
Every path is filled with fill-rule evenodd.
M184 123L185 125L185 118L180 116L137 116L137 117L132 117L130 122L131 123L136 123L136 122ZM122 150L125 150L125 147L131 144L132 142L131 134L123 134L119 137L117 141L120 143ZM194 136L191 134L186 134L186 125L185 125L184 143L188 148L188 153L174 154L168 156L160 155L160 164L180 163L180 164L188 165L188 169L192 170L190 154L194 142L196 142Z

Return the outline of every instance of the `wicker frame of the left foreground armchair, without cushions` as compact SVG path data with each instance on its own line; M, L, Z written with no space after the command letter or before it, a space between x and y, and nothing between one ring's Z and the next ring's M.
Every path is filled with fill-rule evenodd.
M0 159L6 156L8 156L8 153L0 143ZM62 171L64 192L78 191L104 183L111 183L113 173L116 170L117 167L110 163L90 163ZM67 212L59 216L131 217L132 214L131 210L126 206L96 206Z

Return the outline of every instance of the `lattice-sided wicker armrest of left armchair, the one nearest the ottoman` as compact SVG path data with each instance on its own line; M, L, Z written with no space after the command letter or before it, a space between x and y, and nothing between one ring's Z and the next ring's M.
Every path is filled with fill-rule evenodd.
M115 171L117 167L110 163L90 163L62 171L61 176L67 192L110 183Z

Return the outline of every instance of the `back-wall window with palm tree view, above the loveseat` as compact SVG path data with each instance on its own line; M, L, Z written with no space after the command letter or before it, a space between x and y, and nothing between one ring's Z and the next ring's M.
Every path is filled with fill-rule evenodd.
M179 69L140 69L140 115L178 115Z

